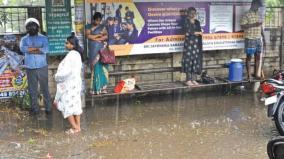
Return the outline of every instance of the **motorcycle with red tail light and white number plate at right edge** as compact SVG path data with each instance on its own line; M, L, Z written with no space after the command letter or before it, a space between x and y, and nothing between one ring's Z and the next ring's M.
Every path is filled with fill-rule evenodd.
M272 78L261 82L260 87L267 106L267 116L274 120L277 130L284 135L284 71L273 73Z

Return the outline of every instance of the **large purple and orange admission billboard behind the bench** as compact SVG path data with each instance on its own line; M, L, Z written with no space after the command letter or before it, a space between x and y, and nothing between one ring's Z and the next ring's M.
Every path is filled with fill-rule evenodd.
M239 19L248 10L250 3L250 0L87 0L85 6L87 23L91 23L95 12L104 15L105 24L109 17L121 19L121 32L116 34L117 39L123 39L120 36L123 31L131 34L132 39L114 40L110 44L116 55L123 56L181 52L184 43L182 26L188 7L197 10L197 19L204 32L204 50L243 48ZM129 31L131 26L127 28L125 25L129 21L127 12L134 15L130 21L137 31ZM132 36L133 33L136 35Z

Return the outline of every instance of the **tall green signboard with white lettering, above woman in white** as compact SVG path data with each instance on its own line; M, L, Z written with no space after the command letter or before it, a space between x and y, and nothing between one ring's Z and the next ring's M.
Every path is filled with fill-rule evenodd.
M46 0L46 23L50 55L65 53L65 41L71 35L70 0Z

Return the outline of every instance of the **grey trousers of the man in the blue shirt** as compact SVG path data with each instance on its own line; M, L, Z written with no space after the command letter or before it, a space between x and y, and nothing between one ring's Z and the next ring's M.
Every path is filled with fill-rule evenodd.
M48 90L48 66L38 69L27 69L28 89L31 96L31 111L39 111L38 83L44 97L45 110L51 110L51 97Z

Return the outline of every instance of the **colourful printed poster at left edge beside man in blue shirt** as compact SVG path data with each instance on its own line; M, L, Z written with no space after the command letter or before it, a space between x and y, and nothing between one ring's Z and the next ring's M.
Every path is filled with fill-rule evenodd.
M0 99L11 98L15 95L24 95L28 87L25 71L15 76L11 69L6 68L0 75Z

